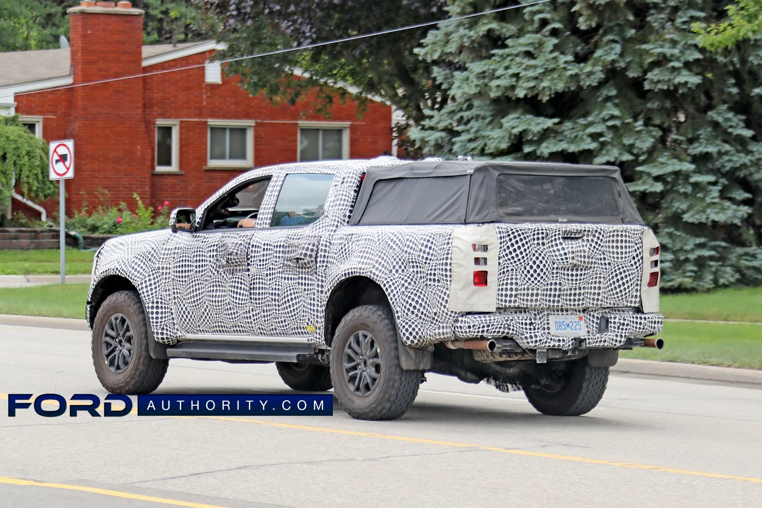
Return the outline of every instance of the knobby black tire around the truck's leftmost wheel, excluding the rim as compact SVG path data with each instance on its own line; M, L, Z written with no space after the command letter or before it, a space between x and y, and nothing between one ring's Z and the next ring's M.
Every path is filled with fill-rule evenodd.
M111 316L121 314L130 321L133 330L133 352L130 364L120 374L111 372L105 363L101 341L104 327ZM108 296L95 316L92 333L92 357L95 374L111 393L146 394L162 383L167 373L168 359L155 359L149 352L148 324L140 297L136 291L118 291Z

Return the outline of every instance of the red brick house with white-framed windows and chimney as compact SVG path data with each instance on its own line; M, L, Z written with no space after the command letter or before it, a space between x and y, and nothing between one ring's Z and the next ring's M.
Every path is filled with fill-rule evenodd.
M337 102L330 119L304 113L306 103L275 107L210 62L214 41L143 46L143 11L129 2L67 12L70 48L0 53L0 114L18 113L38 137L75 141L67 210L97 205L101 190L112 204L132 207L138 193L154 206L197 206L252 167L394 151L388 104L369 101L358 117L357 104ZM86 85L191 65L200 66Z

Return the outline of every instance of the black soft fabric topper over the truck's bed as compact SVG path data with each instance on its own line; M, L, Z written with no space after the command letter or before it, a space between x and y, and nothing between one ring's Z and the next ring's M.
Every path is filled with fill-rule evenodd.
M350 220L351 225L480 222L643 224L618 168L505 161L369 168Z

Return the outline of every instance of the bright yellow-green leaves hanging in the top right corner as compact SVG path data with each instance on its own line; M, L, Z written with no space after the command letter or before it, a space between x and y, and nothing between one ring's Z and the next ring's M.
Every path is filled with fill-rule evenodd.
M738 0L725 8L728 17L720 23L693 24L693 31L700 35L699 44L712 51L726 50L762 35L762 0Z

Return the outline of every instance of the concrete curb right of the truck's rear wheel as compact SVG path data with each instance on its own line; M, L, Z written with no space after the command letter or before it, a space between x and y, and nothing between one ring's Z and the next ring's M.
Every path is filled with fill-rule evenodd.
M611 367L611 371L762 385L762 370L732 369L730 367L694 365L693 363L654 362L647 359L620 358L616 365Z

